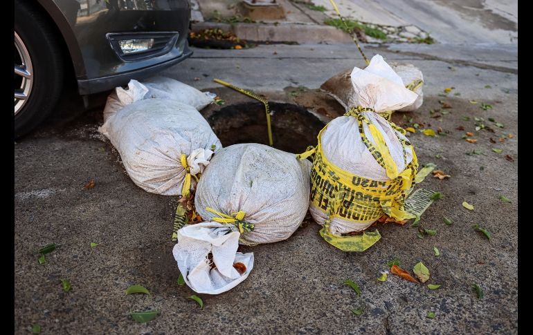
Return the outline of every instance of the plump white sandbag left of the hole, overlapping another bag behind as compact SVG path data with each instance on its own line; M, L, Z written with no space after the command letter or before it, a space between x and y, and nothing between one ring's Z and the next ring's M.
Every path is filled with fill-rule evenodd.
M98 131L115 146L135 184L162 195L181 195L186 176L182 153L195 175L203 171L213 151L222 149L206 119L194 107L176 100L134 102L109 117ZM195 178L191 178L191 189L195 189Z

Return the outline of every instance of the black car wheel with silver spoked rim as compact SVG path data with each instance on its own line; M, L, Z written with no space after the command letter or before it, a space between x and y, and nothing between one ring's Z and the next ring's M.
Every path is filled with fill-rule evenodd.
M49 21L26 1L15 1L15 137L52 111L63 87L60 41Z

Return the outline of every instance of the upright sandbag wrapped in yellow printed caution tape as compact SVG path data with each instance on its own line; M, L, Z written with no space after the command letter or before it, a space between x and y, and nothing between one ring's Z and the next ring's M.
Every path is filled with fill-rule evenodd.
M314 154L309 210L324 225L323 238L345 251L362 251L379 236L354 236L351 244L341 234L363 231L383 213L396 220L413 217L403 204L414 186L415 151L405 131L377 113L409 106L417 94L405 88L380 55L367 68L354 68L350 82L358 105L329 122L316 148L300 159Z

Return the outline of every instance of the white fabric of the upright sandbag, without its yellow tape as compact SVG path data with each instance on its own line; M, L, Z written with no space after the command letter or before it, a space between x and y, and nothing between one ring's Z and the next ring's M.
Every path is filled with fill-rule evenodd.
M376 112L390 111L408 106L417 99L417 94L404 87L401 78L380 55L372 57L370 65L364 70L354 68L351 77L354 92L360 97L359 103L363 108L374 108ZM406 169L404 151L397 136L402 140L407 140L406 137L393 129L389 122L380 115L373 112L363 113L383 135L398 172L404 171ZM375 144L368 125L364 122L363 131L370 142ZM320 143L327 160L338 168L371 180L390 180L385 169L379 165L361 140L356 117L341 116L333 119L322 132ZM413 160L413 153L407 151L407 164L411 160ZM326 215L323 211L314 207L312 203L309 211L318 224L324 224ZM329 229L333 234L340 235L362 231L372 223L373 221L349 222L340 218L332 218Z

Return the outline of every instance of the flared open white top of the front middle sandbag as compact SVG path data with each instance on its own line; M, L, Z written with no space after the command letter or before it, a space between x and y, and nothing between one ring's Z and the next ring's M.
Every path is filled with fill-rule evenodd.
M172 249L185 283L197 293L220 294L245 280L253 269L253 253L237 252L239 231L229 224L201 222L178 231L178 242ZM213 254L211 269L208 254ZM240 274L233 263L246 267Z

